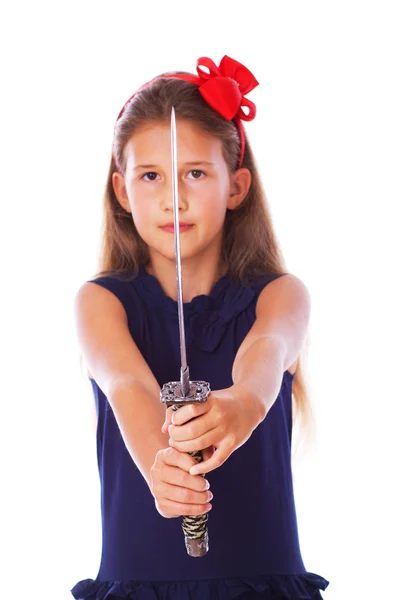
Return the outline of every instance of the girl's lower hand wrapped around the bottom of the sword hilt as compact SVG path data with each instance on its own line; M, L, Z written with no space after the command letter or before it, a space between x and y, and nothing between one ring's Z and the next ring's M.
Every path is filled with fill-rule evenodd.
M203 451L209 457L212 449ZM202 515L211 509L209 483L201 475L190 475L197 464L189 454L175 448L159 450L150 469L151 493L156 508L166 519L183 515ZM207 487L208 486L208 487Z

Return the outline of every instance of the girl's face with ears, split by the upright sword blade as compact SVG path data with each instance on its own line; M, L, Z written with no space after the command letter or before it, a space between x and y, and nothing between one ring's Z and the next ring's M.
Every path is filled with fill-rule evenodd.
M171 129L152 123L136 130L125 146L125 177L114 173L113 186L149 248L150 259L175 262L172 201ZM198 125L177 119L178 196L182 261L220 256L225 213L245 198L248 169L234 174L222 142Z

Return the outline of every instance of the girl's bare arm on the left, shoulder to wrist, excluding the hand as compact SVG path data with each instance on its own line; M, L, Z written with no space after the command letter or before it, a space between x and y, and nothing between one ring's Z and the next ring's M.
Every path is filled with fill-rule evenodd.
M161 432L165 407L160 387L137 348L120 300L93 282L75 297L78 342L91 376L107 397L126 448L150 485L159 450L168 447Z

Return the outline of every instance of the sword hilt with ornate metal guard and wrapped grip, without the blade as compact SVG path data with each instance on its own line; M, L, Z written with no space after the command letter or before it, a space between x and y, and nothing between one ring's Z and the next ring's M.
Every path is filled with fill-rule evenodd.
M189 392L185 395L184 387L187 387L187 384L183 381L183 375L181 372L181 381L165 383L160 392L161 402L166 404L168 408L171 406L174 411L185 404L205 402L211 393L210 384L207 381L188 381ZM203 461L201 450L188 452L188 454L193 456L198 463ZM204 473L202 477L204 477ZM207 521L208 513L205 515L184 515L182 517L185 546L189 556L200 557L207 554L209 549Z

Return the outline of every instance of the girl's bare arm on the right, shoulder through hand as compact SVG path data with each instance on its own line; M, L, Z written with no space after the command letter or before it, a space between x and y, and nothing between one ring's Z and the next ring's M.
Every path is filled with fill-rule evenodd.
M207 402L176 413L168 409L163 431L169 432L170 445L180 452L216 448L210 459L190 469L192 474L221 466L265 418L284 371L301 351L309 317L310 296L302 281L289 274L275 279L261 292L256 320L237 351L233 385L213 391Z

